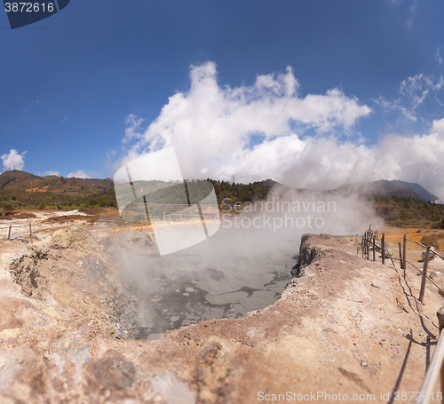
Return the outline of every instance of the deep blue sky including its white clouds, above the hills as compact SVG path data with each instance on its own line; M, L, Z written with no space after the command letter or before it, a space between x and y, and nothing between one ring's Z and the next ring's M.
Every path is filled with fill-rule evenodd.
M0 12L1 170L106 178L173 146L185 177L398 178L444 199L443 17L426 0L71 0L11 30Z

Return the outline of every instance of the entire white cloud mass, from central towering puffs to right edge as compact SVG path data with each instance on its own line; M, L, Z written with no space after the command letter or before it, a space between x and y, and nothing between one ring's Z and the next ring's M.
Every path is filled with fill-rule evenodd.
M218 84L214 63L192 67L190 77L190 90L170 97L147 130L140 130L140 118L131 115L133 132L131 139L125 137L120 163L172 146L183 178L228 180L235 174L240 182L273 178L327 189L400 179L420 183L444 200L444 119L434 121L429 133L411 138L393 133L366 147L361 136L353 142L339 133L351 131L371 109L338 89L298 96L290 68L235 88ZM420 75L409 79L402 86L407 95L442 85ZM383 105L385 99L378 102ZM408 115L408 108L403 113ZM307 129L314 135L308 136ZM252 146L258 134L264 140Z

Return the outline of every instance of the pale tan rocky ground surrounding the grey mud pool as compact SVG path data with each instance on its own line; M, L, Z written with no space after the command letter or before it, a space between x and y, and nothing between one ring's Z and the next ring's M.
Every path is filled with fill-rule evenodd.
M296 277L274 305L155 341L131 339L136 303L87 231L59 231L33 246L1 242L0 402L330 402L345 395L387 402L395 390L396 402L411 402L444 298L429 282L420 304L416 271L364 260L359 242L305 235ZM433 265L438 260L431 271L440 284ZM402 392L410 392L406 400Z

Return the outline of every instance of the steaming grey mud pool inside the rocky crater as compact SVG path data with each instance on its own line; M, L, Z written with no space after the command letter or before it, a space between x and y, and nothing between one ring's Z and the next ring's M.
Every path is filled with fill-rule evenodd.
M295 251L276 250L254 258L199 269L198 254L158 257L138 254L139 338L157 339L170 329L199 321L242 318L273 305L291 279Z

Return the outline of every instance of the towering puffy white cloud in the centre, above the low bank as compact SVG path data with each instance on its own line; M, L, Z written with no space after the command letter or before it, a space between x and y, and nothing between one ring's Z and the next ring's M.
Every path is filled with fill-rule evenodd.
M250 140L255 134L271 142L295 130L344 132L371 113L338 89L299 97L290 67L285 74L258 75L252 85L234 88L218 85L211 62L192 67L190 78L190 91L170 97L146 131L140 131L140 118L127 118L129 131L123 142L132 144L125 161L174 146L186 178L203 172L220 177L253 152Z

